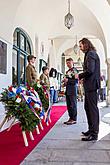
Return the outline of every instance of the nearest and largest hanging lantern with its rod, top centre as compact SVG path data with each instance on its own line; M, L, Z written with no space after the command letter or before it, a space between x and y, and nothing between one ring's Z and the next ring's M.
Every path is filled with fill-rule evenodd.
M70 13L70 0L68 0L68 14L65 16L64 23L68 29L70 29L74 23L74 18Z

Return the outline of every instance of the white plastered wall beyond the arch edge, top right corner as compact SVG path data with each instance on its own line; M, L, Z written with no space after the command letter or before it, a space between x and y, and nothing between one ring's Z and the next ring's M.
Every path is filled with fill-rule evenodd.
M103 29L104 37L102 38L103 45L105 47L105 53L110 58L110 5L106 0L80 0L96 17Z

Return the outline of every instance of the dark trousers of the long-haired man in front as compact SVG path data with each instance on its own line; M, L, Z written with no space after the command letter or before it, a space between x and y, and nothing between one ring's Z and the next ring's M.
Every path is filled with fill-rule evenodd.
M85 92L85 104L88 129L92 135L99 132L99 109L97 107L97 91Z

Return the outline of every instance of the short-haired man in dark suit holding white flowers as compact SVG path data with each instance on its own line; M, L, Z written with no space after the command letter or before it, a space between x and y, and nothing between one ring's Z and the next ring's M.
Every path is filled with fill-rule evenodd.
M78 83L78 73L77 69L73 66L73 59L66 59L66 64L69 70L66 72L65 78L63 80L66 86L66 103L68 109L69 120L64 122L64 124L71 125L76 124L77 121L77 83Z

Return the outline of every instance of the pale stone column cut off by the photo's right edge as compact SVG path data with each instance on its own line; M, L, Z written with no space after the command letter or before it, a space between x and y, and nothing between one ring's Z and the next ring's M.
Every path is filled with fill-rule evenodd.
M106 60L107 63L107 105L110 105L110 58Z

